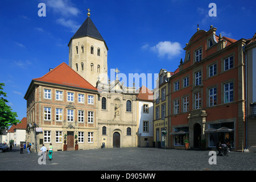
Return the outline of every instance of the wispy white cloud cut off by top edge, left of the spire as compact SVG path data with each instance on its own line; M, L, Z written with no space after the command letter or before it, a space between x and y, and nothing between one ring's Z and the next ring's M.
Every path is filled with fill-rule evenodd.
M46 6L50 7L55 11L55 13L64 15L64 16L70 16L80 13L80 10L73 6L72 2L69 0L47 0Z

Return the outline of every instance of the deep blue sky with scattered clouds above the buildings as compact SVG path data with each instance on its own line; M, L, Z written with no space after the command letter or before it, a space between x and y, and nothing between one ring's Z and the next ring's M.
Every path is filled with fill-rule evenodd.
M39 3L46 16L39 17ZM217 16L209 16L215 3ZM87 18L100 31L109 48L108 72L159 73L175 71L183 48L196 32L208 31L233 39L249 39L256 32L255 1L151 1L151 0L40 0L0 1L0 82L18 119L26 117L24 94L32 78L49 68L68 64L68 42Z

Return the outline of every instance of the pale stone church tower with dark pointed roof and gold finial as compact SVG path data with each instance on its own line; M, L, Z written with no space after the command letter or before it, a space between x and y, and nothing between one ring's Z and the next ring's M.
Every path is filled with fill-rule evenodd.
M69 67L85 80L96 86L96 82L106 82L108 76L108 47L96 26L88 17L68 43ZM105 80L104 80L105 77Z

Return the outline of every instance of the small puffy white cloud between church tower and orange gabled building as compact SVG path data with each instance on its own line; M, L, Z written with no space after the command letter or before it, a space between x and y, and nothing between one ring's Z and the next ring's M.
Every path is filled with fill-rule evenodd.
M167 56L168 59L180 55L183 50L180 43L170 41L159 42L156 46L153 46L150 49L151 51L158 53L158 57L162 58Z

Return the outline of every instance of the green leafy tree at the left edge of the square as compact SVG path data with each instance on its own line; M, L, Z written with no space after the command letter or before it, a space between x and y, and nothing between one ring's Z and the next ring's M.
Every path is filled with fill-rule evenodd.
M6 130L7 127L12 125L17 125L20 121L16 119L18 117L16 112L13 112L10 106L6 103L9 102L5 97L6 93L3 92L4 83L0 83L0 134L3 130Z

